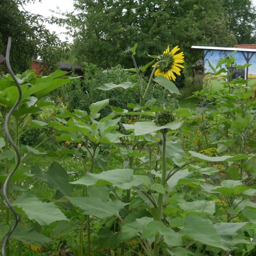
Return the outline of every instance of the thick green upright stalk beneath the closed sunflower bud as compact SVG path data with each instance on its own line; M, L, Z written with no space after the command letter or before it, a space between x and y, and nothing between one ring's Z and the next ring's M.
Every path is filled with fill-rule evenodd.
M161 178L161 184L163 185L163 187L165 187L166 185L166 140L167 140L166 132L163 131L163 153L162 153L163 170L162 170L162 178ZM155 221L161 221L162 207L163 207L163 194L158 193ZM155 236L153 256L158 256L159 248L160 248L159 239L160 239L160 234L158 233Z

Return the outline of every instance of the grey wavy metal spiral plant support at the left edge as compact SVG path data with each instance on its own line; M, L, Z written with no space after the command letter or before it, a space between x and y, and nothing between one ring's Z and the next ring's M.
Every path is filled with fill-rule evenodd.
M17 161L16 161L16 164L15 164L15 167L12 169L12 172L9 173L9 175L6 178L6 181L5 181L4 185L3 185L3 196L4 196L4 199L6 201L6 204L8 204L9 208L12 210L12 212L13 212L13 214L15 216L15 224L12 226L12 228L10 229L9 233L6 235L6 237L5 237L4 241L3 241L2 256L6 255L6 244L8 242L9 237L12 235L13 231L17 227L17 224L18 224L18 221L19 221L19 216L18 216L17 212L15 211L15 209L12 207L12 204L10 203L10 201L8 199L8 193L7 193L7 187L8 187L9 180L12 177L12 175L15 173L15 171L17 170L18 166L20 165L20 152L19 152L17 146L15 145L14 141L12 140L12 137L11 137L11 135L9 133L9 128L8 128L9 120L11 119L12 112L19 105L20 99L21 99L20 84L18 83L18 81L17 81L17 79L16 79L16 77L15 77L13 71L12 71L12 68L10 66L10 61L9 61L11 44L12 44L12 38L9 37L8 38L8 44L7 44L7 50L6 50L6 65L7 65L7 68L8 68L8 70L9 70L11 76L12 76L12 79L15 81L15 84L18 87L19 97L17 99L17 102L15 102L15 104L13 105L13 107L11 108L10 112L8 113L8 115L6 117L6 120L4 122L4 130L5 130L7 139L12 144L12 146L13 146L13 148L15 150L15 153L17 155Z

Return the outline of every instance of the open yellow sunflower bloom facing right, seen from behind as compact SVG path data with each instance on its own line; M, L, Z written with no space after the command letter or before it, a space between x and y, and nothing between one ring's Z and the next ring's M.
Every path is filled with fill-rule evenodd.
M178 46L175 46L171 51L169 48L169 45L167 46L167 49L163 52L162 55L159 55L158 58L161 61L159 64L154 64L152 67L155 67L157 65L157 70L155 71L155 76L164 76L165 78L169 80L175 81L176 76L174 73L176 73L178 76L180 76L180 68L184 68L179 63L184 62L184 56L183 52L180 52L178 54L175 54L180 48Z

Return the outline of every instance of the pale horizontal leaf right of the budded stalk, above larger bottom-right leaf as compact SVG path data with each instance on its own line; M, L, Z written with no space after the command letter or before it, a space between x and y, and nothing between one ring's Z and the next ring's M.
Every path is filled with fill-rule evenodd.
M185 212L196 212L198 214L214 214L215 213L215 203L213 201L193 201L186 202L183 204L178 204L181 209Z

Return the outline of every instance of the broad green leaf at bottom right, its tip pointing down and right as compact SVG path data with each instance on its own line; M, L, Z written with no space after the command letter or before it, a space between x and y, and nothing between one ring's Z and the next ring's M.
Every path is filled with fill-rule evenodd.
M183 236L189 236L202 244L222 248L224 250L227 249L221 244L220 236L212 223L197 215L188 215L185 218L184 229L181 230L180 233L182 233Z

